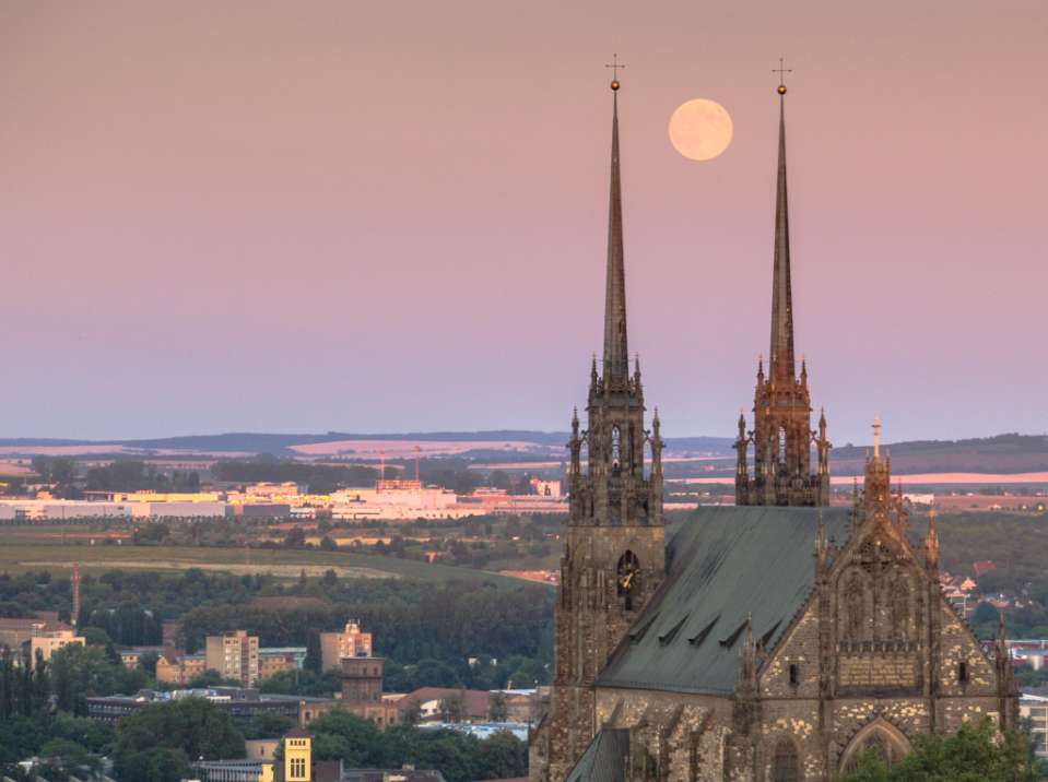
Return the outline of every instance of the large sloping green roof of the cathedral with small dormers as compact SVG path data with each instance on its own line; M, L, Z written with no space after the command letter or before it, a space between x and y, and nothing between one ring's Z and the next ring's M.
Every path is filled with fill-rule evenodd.
M698 508L668 544L666 581L597 686L731 695L747 620L759 656L812 592L820 514L843 545L848 508Z

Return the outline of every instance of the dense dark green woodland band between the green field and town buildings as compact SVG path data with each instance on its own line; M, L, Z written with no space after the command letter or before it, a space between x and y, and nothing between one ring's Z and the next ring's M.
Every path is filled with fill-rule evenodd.
M307 599L287 609L252 605L259 596ZM58 611L68 618L68 578L49 572L0 574L0 616ZM117 570L81 581L79 627L97 642L153 645L163 621L180 619L190 650L209 633L243 628L263 645L308 645L319 630L358 619L389 660L391 688L545 682L552 657L553 591L463 578L446 584L409 579L322 579L285 583L266 574L232 576L199 569L178 574ZM101 633L101 635L98 635ZM469 657L481 661L470 666ZM319 673L319 672L318 672ZM305 692L304 692L305 694Z

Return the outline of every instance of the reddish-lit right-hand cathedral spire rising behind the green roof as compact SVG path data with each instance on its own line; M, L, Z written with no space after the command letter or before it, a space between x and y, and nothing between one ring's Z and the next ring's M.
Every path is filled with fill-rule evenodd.
M763 358L757 364L753 398L753 429L746 431L739 415L735 467L735 505L829 505L829 441L826 414L819 429L811 428L811 390L808 366L801 359L800 376L793 353L793 295L790 284L790 225L786 191L786 85L779 93L779 158L775 201L775 262L772 280L772 345L768 374ZM753 475L749 447L753 445ZM812 472L812 445L817 462Z

